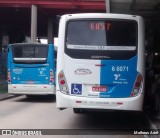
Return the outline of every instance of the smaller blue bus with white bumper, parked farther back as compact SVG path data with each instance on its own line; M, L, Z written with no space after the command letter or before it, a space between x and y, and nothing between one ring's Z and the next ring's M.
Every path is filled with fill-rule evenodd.
M55 56L52 44L8 46L8 93L55 94Z

